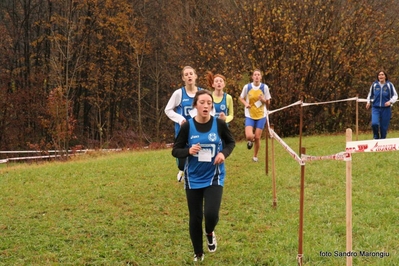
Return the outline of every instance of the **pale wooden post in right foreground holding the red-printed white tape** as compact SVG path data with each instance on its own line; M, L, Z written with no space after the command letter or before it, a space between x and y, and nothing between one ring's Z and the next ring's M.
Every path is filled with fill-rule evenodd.
M352 130L346 129L346 142L352 141ZM346 252L352 252L352 159L346 161ZM352 266L352 256L346 256L346 265Z

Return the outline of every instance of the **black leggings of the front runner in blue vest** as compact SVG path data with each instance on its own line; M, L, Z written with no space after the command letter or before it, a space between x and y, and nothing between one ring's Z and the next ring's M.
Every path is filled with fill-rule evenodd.
M189 231L194 253L204 253L202 219L205 216L205 233L210 234L219 221L223 187L210 186L201 189L186 189L188 212L190 215Z

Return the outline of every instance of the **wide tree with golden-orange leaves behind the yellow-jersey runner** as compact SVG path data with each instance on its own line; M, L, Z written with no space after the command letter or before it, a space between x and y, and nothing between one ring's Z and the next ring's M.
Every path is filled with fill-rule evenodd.
M370 74L380 65L375 47L392 45L387 40L397 32L392 12L367 0L224 1L219 8L206 1L202 9L192 7L201 14L188 38L193 57L211 68L240 74L245 82L252 69L262 69L273 109L300 99L350 98L360 88L365 97L360 86L366 79L371 82ZM344 130L354 123L353 112L350 103L309 108L306 116L312 123L305 130ZM277 113L271 121L282 135L297 134L296 113L298 109Z

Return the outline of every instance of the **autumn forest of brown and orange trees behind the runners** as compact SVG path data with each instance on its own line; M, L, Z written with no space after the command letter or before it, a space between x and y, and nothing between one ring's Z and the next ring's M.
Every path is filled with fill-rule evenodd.
M380 69L399 84L398 14L397 0L2 0L0 150L172 142L164 107L185 65L200 87L208 70L227 77L238 140L255 68L271 109L366 98ZM297 135L298 113L273 114L275 131ZM353 101L307 108L303 132L344 132L355 116Z

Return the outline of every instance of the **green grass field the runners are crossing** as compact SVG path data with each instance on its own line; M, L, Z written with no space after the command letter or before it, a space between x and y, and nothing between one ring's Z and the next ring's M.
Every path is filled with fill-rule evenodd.
M298 151L298 138L284 141ZM304 137L302 145L307 154L331 155L345 150L345 135ZM227 159L218 250L206 253L202 265L297 264L300 166L275 143L273 208L264 148L263 141L259 163L251 162L244 142ZM389 252L385 258L358 255L354 265L399 261L398 158L396 152L353 155L353 250ZM334 256L346 247L345 169L343 161L306 164L305 265L346 263ZM0 265L192 265L176 173L170 149L1 165Z

